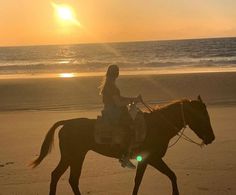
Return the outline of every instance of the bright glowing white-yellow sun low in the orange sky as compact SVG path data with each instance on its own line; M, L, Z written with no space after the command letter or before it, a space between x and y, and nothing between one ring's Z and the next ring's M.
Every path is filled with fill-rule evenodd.
M55 10L56 17L60 22L80 25L79 21L76 19L73 9L70 6L64 4L56 4L54 2L52 2L51 4Z

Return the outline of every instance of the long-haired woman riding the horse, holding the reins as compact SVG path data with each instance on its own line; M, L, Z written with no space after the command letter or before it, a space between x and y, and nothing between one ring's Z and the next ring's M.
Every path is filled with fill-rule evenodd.
M113 122L117 121L122 127L127 129L127 136L124 143L121 145L123 149L123 155L119 162L122 167L135 168L130 162L130 146L132 139L132 119L129 116L127 105L130 103L141 102L141 95L137 97L123 97L120 95L120 90L116 86L116 79L119 76L119 67L117 65L110 65L106 72L106 77L101 86L102 100L104 103L103 113L112 118ZM116 123L116 124L118 124Z

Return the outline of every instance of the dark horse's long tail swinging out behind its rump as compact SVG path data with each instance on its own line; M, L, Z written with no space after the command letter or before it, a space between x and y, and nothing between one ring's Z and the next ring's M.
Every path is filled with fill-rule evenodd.
M55 133L57 127L63 125L64 123L65 123L65 121L58 121L49 129L47 135L44 138L43 144L41 146L39 157L37 159L35 159L32 163L30 163L30 166L32 168L37 167L41 163L41 161L47 156L47 154L51 152L52 145L53 145L54 133Z

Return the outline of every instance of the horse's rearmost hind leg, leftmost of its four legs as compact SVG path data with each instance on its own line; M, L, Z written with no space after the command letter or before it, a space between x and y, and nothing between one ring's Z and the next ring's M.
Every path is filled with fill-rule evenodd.
M56 194L56 188L57 188L57 182L62 176L62 174L66 171L68 168L68 162L64 159L61 159L57 167L54 169L54 171L51 174L51 183L50 183L50 192L49 195L55 195Z

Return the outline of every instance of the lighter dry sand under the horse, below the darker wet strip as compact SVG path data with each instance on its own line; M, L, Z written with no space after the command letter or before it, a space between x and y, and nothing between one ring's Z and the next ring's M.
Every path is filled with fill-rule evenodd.
M216 135L213 144L201 149L181 140L165 156L178 177L182 195L236 194L236 107L212 106L209 113ZM58 138L53 152L39 167L33 170L27 167L38 154L46 132L57 120L81 116L94 118L97 114L96 111L0 113L0 195L47 194L50 173L59 160ZM189 129L187 132L198 140ZM80 189L84 195L129 195L134 176L134 170L121 168L117 160L89 152ZM68 184L68 171L58 183L58 194L73 194ZM171 194L170 182L149 166L139 194Z

